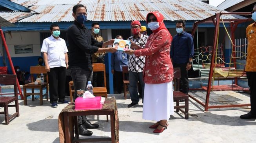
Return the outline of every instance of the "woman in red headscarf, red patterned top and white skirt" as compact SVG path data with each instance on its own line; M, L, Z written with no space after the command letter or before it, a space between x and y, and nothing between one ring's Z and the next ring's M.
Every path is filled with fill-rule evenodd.
M172 78L173 67L170 58L172 36L163 23L163 15L157 11L147 14L147 24L153 34L147 39L145 48L132 42L128 54L146 56L143 79L145 82L143 119L156 123L149 128L154 133L167 129L169 117L173 114Z

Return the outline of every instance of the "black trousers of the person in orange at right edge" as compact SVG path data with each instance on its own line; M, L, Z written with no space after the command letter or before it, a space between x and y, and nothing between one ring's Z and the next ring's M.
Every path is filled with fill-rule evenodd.
M251 113L256 114L256 71L246 71L250 87Z

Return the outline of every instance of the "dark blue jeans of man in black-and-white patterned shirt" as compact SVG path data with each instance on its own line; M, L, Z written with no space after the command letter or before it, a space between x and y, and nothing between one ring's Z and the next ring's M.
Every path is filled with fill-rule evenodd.
M145 83L143 81L143 72L136 73L129 71L129 92L131 96L131 100L133 103L138 104L139 97L138 97L138 81L140 81L140 84L142 86L142 103L144 98L144 86Z

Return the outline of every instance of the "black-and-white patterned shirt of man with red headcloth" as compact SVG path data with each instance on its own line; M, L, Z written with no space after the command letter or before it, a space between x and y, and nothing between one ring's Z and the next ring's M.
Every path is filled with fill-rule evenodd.
M131 36L127 40L129 41L132 40L134 43L144 48L147 43L147 38L149 38L149 36L140 34L140 37L138 38ZM140 73L140 72L143 72L144 66L145 66L145 56L136 57L134 54L129 55L128 71Z

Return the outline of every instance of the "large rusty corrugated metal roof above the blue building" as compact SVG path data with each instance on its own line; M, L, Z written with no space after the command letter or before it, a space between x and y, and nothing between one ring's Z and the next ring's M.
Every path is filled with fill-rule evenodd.
M75 4L84 4L87 7L87 19L91 21L145 21L147 13L151 11L159 11L165 20L170 21L203 20L215 13L225 12L199 0L12 0L12 2L40 13L24 18L20 22L73 21L72 8ZM3 14L5 13L0 13L0 16ZM15 16L17 15L18 13L15 13ZM223 18L235 17L223 16Z

